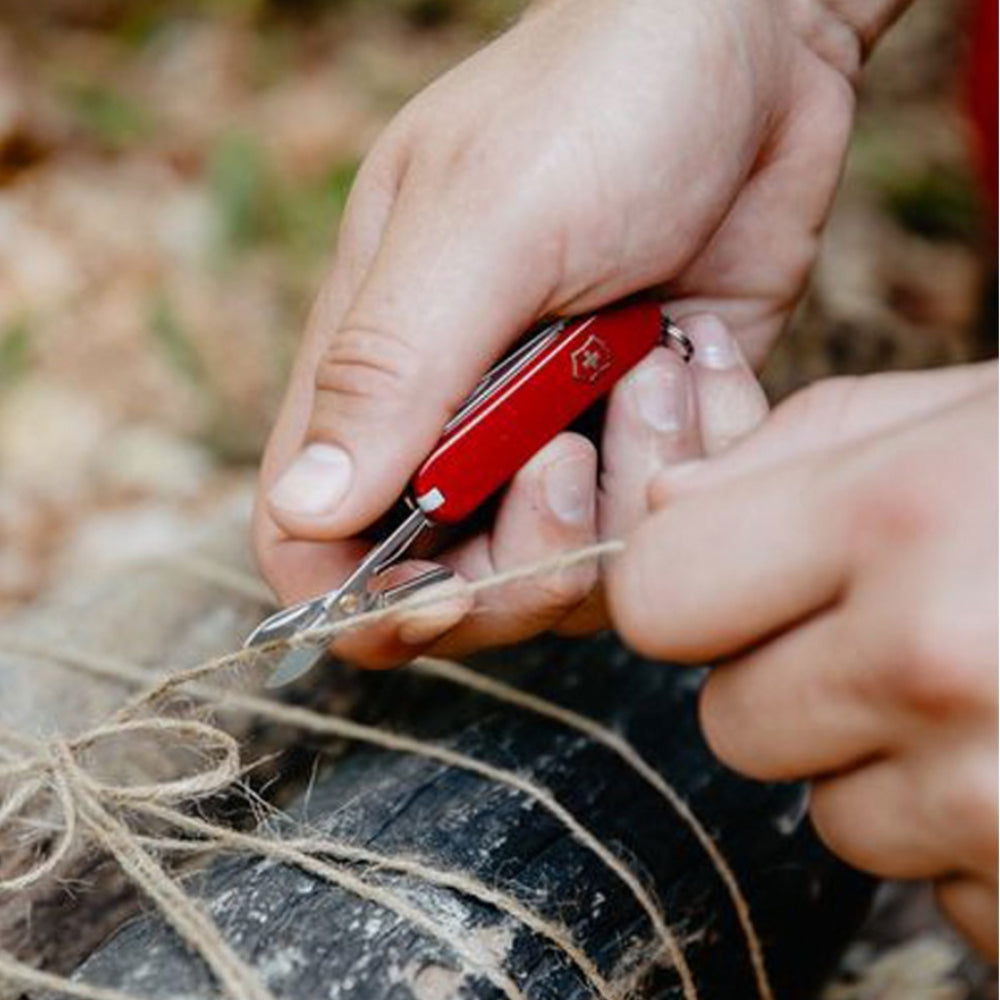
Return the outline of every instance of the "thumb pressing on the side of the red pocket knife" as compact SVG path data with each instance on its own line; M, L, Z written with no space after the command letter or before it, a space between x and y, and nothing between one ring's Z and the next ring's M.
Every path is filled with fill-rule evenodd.
M498 212L469 184L439 184L408 176L316 359L302 450L268 494L275 521L297 537L346 537L385 510L549 291L545 251L524 252L516 211Z

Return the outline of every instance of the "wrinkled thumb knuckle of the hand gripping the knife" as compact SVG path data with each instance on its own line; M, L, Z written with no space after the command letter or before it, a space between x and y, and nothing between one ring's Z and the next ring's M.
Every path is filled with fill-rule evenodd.
M399 334L351 325L336 334L319 357L317 410L347 418L398 416L420 385L423 370L419 352Z

